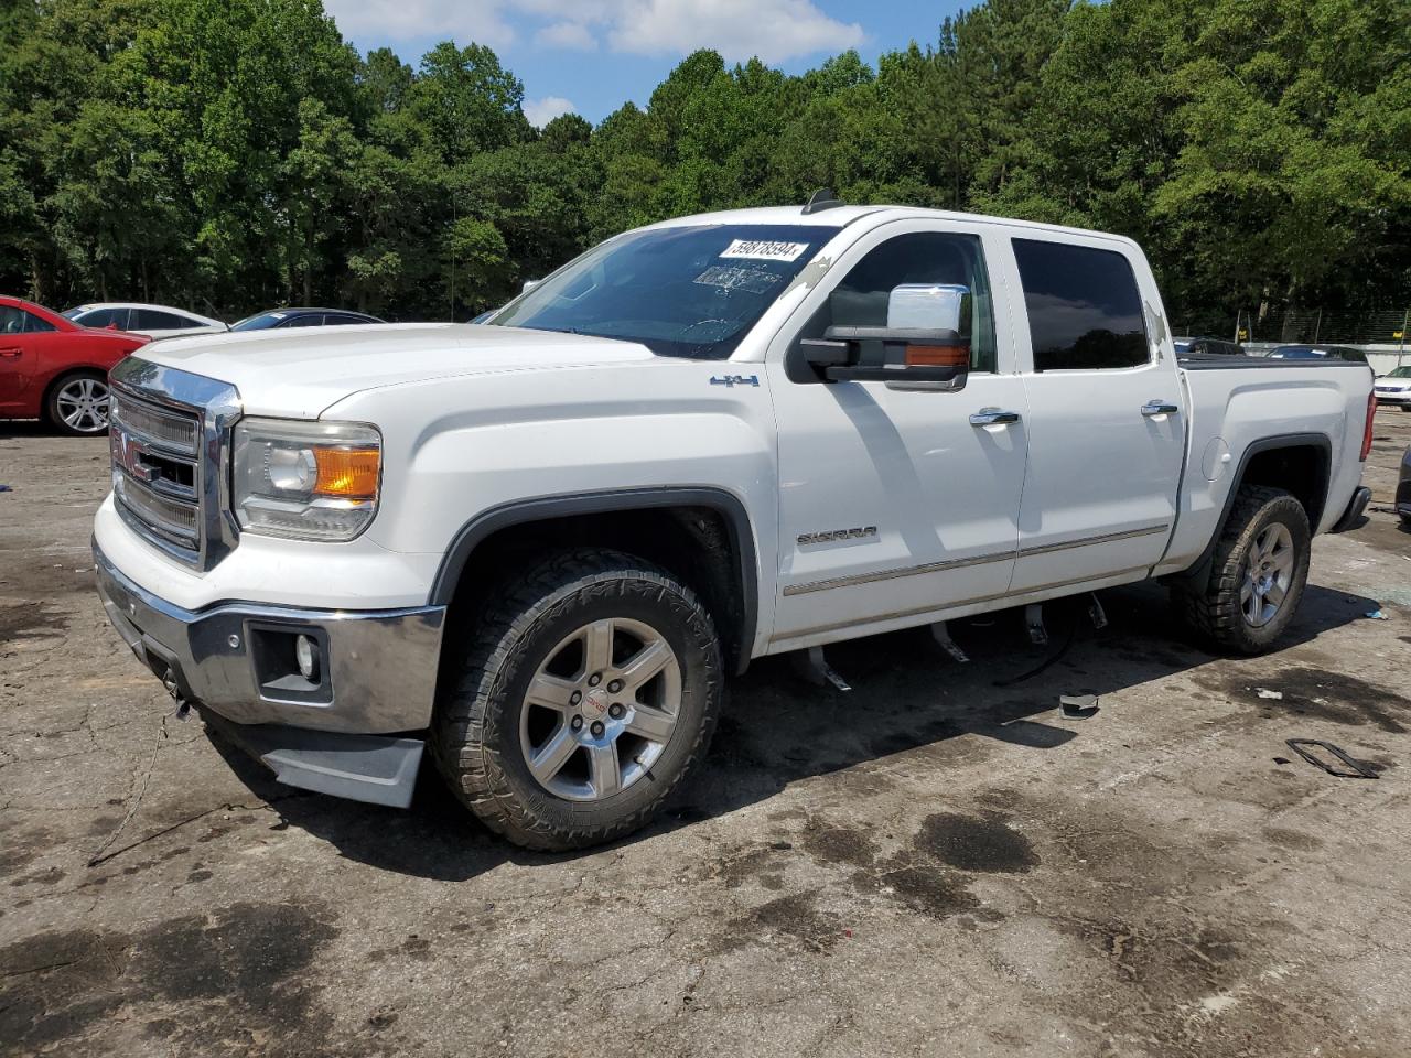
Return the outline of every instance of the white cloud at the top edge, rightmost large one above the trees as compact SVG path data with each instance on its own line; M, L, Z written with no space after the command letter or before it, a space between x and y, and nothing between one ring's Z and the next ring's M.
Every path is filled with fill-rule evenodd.
M811 0L625 0L608 39L639 55L714 48L727 62L785 62L855 48L864 37L861 25L830 18Z

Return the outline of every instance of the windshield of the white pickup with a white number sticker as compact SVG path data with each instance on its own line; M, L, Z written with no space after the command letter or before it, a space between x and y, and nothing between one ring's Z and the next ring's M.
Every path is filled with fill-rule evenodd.
M838 230L708 224L629 231L571 261L487 323L722 360Z

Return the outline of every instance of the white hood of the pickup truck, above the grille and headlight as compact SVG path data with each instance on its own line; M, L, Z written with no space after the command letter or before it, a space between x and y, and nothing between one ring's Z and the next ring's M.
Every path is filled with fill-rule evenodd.
M363 389L490 371L650 361L643 346L587 334L398 323L164 339L143 360L230 382L246 413L316 418Z

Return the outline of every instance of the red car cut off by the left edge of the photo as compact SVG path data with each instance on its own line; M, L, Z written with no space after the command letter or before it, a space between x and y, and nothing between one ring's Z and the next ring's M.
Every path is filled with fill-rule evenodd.
M0 419L48 419L63 433L104 433L107 372L147 341L0 298Z

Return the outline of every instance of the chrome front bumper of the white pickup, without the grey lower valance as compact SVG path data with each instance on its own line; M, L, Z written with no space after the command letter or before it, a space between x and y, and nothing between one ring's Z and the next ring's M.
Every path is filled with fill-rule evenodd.
M181 609L124 577L93 545L109 619L168 690L234 724L385 735L430 725L444 607ZM319 645L317 684L288 679L292 636Z

